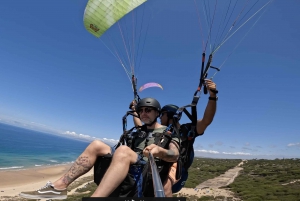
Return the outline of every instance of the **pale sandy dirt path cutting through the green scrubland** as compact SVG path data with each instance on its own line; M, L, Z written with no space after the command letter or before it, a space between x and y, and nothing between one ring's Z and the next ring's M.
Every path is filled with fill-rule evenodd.
M191 196L195 195L197 197L202 196L224 196L225 198L232 197L233 200L238 201L238 198L234 198L234 195L231 191L226 189L220 189L220 187L227 186L231 184L234 179L238 176L239 172L243 169L241 166L245 161L242 161L236 167L227 170L224 174L215 177L213 179L209 179L198 186L196 188L183 188L178 194L182 194L183 196Z

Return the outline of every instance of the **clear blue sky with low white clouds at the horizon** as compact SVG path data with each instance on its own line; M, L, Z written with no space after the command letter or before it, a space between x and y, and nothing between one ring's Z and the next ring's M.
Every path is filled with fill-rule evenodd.
M147 82L163 86L163 90L150 88L139 93L141 98L157 98L161 105L191 103L199 82L202 39L206 37L201 35L197 13L202 15L204 10L197 12L192 0L184 2L149 0L144 5L145 13L151 10L153 17L145 21L148 29L141 31L145 43L135 72L138 87ZM260 6L266 2L260 1ZM74 136L119 138L132 88L120 63L84 28L86 3L1 2L1 122ZM200 8L201 2L197 3ZM222 3L225 1L218 2L221 9L214 24L223 20L226 6ZM296 0L274 0L255 26L255 20L249 21L214 55L214 66L230 57L213 78L219 90L217 114L196 140L196 155L299 157L299 6ZM207 33L204 18L200 19ZM105 34L116 35L113 29L109 31ZM104 35L108 43L105 40ZM209 71L208 77L214 72ZM199 118L207 100L202 94ZM129 117L128 128L131 126Z

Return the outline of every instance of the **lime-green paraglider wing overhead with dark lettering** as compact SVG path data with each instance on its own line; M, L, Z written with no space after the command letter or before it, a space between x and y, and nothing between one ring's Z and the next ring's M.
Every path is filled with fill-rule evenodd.
M147 0L89 0L84 11L84 26L99 38L124 15Z

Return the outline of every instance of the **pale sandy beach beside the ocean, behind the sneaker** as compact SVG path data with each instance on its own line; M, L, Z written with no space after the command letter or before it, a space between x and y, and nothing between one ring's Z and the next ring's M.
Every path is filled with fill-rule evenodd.
M23 191L34 191L43 187L47 181L59 179L72 164L37 167L24 170L0 171L0 200L4 196L18 196ZM93 169L81 176L93 175Z

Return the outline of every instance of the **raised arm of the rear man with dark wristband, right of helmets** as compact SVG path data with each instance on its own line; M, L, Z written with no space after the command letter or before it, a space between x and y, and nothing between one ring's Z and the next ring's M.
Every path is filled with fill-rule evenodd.
M209 90L209 97L217 99L216 84L211 80L206 80L206 87ZM205 129L211 124L217 110L217 100L208 100L202 119L197 121L197 133L203 134Z

